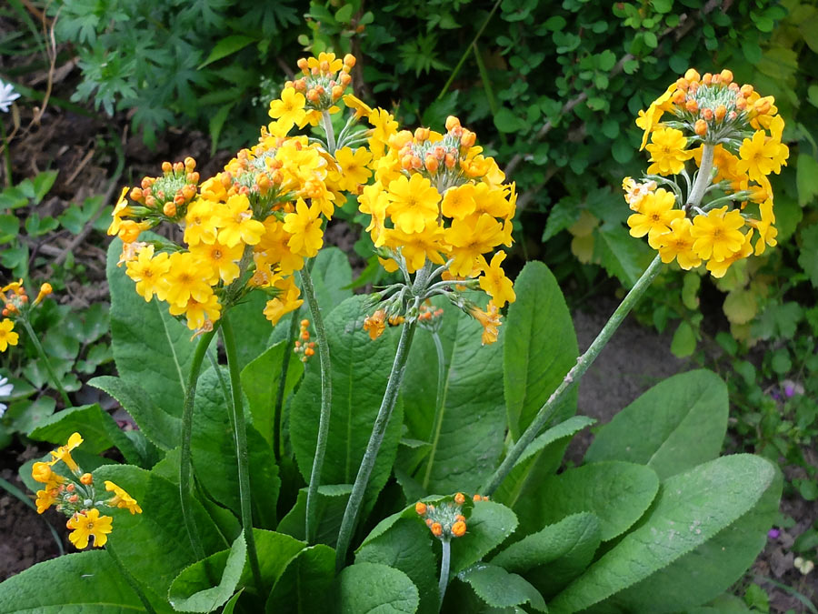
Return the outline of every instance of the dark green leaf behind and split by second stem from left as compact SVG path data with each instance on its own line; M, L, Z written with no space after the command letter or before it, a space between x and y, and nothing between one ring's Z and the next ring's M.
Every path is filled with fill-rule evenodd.
M210 368L200 377L196 387L191 453L196 478L213 498L239 515L238 464L227 409L230 382L226 368L220 368L221 378ZM225 398L225 394L228 397ZM248 424L246 428L254 524L260 528L273 528L281 486L278 466L266 440L253 425Z

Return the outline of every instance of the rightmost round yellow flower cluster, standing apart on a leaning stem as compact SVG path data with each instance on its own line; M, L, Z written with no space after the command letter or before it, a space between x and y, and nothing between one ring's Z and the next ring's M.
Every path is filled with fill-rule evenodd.
M789 149L773 96L739 86L729 70L691 68L636 124L651 165L643 182L623 181L633 237L647 235L665 263L675 259L685 270L706 263L713 277L776 245L768 176L781 172ZM668 178L678 175L682 186Z

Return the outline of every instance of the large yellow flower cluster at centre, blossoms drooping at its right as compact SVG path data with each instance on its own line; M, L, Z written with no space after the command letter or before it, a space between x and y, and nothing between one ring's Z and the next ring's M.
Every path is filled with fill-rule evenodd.
M447 267L444 279L478 279L492 300L486 311L470 308L484 324L484 343L496 340L497 310L514 302L514 288L501 267L512 245L514 184L494 158L483 156L475 135L449 116L444 134L418 128L398 131L382 109L369 113L374 183L358 196L371 216L366 230L382 250L387 271L414 273L427 263ZM383 328L381 328L383 329ZM374 328L372 328L374 330Z

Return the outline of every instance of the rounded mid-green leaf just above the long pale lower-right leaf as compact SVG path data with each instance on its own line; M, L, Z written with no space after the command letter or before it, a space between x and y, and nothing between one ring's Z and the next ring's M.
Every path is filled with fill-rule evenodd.
M602 540L608 541L642 518L658 490L652 468L622 461L584 465L545 479L537 493L540 505L521 510L520 523L540 528L577 512L592 512L599 518Z

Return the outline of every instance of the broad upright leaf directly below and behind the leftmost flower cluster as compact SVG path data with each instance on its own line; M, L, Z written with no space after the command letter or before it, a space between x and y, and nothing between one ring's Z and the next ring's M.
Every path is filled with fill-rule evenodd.
M120 252L122 241L115 238L108 247L107 277L116 369L126 383L142 389L156 407L181 417L195 349L191 331L168 313L165 303L155 297L147 303L136 294L125 266L116 266Z

